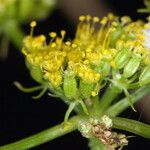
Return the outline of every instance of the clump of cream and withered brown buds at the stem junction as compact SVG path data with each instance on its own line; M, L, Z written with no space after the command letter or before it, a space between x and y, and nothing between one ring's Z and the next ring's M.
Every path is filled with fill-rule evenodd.
M112 131L112 120L104 115L100 120L91 118L89 121L81 122L79 131L86 138L95 137L100 140L107 149L122 149L128 145L127 136Z

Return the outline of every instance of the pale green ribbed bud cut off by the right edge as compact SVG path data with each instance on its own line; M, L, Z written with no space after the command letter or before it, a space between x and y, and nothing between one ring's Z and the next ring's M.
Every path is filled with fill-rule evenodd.
M141 86L150 83L150 64L142 71L139 77L139 83Z

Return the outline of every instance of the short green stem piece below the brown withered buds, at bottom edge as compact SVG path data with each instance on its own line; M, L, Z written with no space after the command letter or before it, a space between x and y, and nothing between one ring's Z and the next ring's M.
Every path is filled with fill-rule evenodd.
M89 139L89 147L91 150L107 150L105 145L95 137Z

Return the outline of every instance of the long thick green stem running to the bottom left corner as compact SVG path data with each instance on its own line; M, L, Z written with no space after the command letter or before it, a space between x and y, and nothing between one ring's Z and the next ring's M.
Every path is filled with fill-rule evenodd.
M81 116L75 116L69 120L67 127L64 127L64 123L56 125L50 129L32 135L28 138L22 139L20 141L1 146L0 150L26 150L40 144L51 141L55 138L63 136L69 132L72 132L77 129L78 122L81 119Z

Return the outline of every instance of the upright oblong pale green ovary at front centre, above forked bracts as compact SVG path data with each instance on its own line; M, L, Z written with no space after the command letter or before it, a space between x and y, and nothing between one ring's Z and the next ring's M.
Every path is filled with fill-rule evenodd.
M76 81L74 72L66 71L64 73L63 90L64 90L65 96L68 99L76 99L77 81Z

